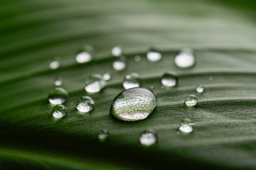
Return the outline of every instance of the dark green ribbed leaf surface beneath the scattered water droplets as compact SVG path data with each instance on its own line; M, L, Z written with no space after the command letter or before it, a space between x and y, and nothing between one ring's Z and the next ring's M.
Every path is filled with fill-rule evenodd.
M2 0L0 169L255 169L255 11L250 0ZM95 60L77 64L74 55L84 44L95 47ZM112 68L115 45L128 58L122 72ZM162 51L160 62L146 59L151 45ZM194 50L194 67L174 65L183 47ZM50 70L57 56L61 67ZM179 84L162 89L168 71ZM87 94L84 79L104 72L113 79L99 94ZM155 111L134 123L109 114L130 72L158 98ZM68 111L56 121L47 96L60 76ZM198 84L204 94L196 94ZM195 108L184 106L189 94L199 98ZM95 108L81 115L76 103L85 95ZM184 118L194 121L194 132L177 135ZM102 129L110 134L106 142L97 140ZM143 148L138 139L148 129L157 145Z

